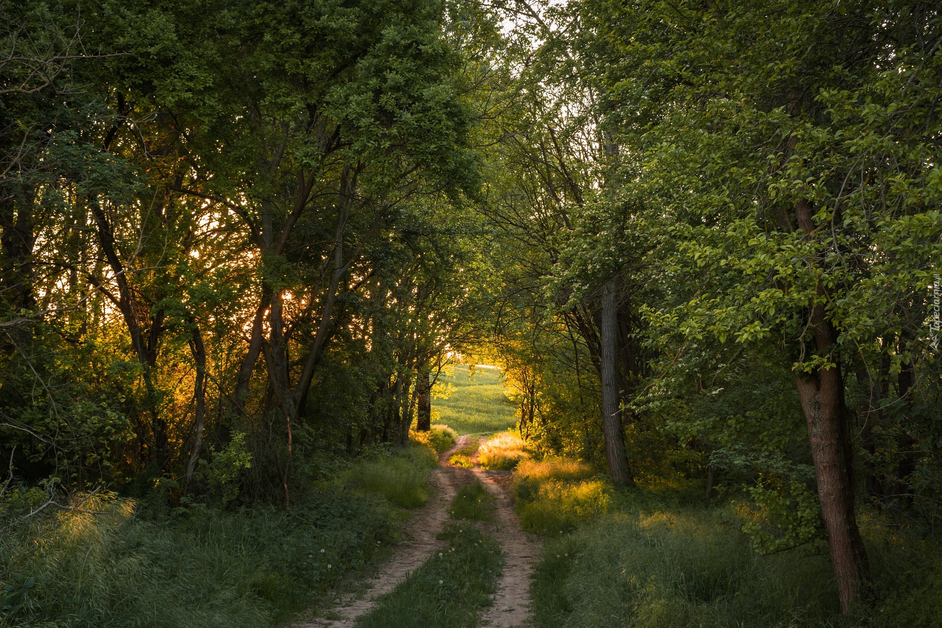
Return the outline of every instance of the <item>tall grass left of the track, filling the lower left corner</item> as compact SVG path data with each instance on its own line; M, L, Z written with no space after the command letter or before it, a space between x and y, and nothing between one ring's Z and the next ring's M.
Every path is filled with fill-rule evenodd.
M195 505L149 521L96 494L86 512L0 522L0 626L278 625L396 539L375 497L297 499L288 512Z

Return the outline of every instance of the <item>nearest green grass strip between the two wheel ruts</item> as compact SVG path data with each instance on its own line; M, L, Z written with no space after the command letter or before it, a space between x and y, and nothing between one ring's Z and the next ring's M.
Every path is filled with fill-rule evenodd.
M491 603L503 559L494 538L452 523L439 539L448 545L380 598L359 628L465 628L478 625Z

